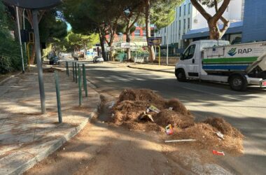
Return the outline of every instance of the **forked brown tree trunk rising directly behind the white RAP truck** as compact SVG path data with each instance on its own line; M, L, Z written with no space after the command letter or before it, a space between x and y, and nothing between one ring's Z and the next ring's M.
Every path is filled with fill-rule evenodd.
M218 8L218 3L222 2L221 6ZM191 3L197 10L202 14L202 16L207 20L209 25L209 36L210 39L219 40L223 37L228 27L230 26L229 20L223 18L223 13L230 3L230 0L191 0ZM201 4L202 3L202 4ZM209 8L215 8L216 13L211 15L202 7L206 5ZM222 29L218 26L218 20L223 22Z

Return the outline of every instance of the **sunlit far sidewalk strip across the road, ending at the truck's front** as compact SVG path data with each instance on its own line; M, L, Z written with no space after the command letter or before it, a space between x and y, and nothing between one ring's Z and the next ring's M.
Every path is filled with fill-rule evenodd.
M134 69L143 69L148 71L162 71L166 73L174 73L175 66L165 66L165 65L156 65L156 64L130 64L128 65L130 68Z

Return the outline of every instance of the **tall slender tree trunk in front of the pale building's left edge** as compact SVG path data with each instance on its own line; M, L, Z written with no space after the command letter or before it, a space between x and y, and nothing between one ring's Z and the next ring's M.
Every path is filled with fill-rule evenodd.
M148 44L148 37L151 37L151 2L150 0L146 0L146 7L145 7L145 22L146 22L146 38L147 38L147 44ZM155 60L155 52L154 48L151 45L148 45L148 52L149 60L150 62L153 62Z

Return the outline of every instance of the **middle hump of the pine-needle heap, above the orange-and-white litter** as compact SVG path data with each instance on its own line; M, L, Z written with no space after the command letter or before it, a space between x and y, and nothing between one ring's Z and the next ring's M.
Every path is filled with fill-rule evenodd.
M171 124L174 127L183 129L194 125L193 116L184 116L181 113L176 113L176 111L170 111L169 109L162 110L154 117L154 120L161 127Z

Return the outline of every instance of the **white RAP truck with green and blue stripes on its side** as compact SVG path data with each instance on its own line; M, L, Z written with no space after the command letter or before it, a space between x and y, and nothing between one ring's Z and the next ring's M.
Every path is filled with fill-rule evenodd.
M190 78L217 81L237 91L248 85L266 87L266 42L195 41L181 54L175 69L181 82Z

